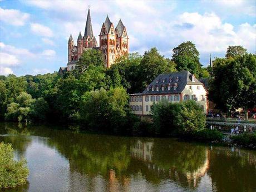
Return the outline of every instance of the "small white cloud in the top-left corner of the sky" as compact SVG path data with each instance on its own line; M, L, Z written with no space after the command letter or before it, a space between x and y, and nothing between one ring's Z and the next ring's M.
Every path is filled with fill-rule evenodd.
M29 18L28 13L22 13L17 9L3 9L0 7L0 20L13 26L23 26Z

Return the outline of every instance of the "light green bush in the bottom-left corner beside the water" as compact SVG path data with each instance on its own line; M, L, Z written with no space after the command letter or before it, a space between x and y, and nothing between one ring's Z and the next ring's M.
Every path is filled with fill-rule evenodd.
M0 189L14 188L27 182L26 160L13 160L11 144L0 143Z

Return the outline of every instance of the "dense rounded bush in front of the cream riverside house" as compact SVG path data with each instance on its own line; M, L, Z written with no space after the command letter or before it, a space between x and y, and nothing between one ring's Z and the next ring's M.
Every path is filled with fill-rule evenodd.
M152 106L152 119L160 135L183 134L205 128L205 115L195 101L177 104L162 101Z

